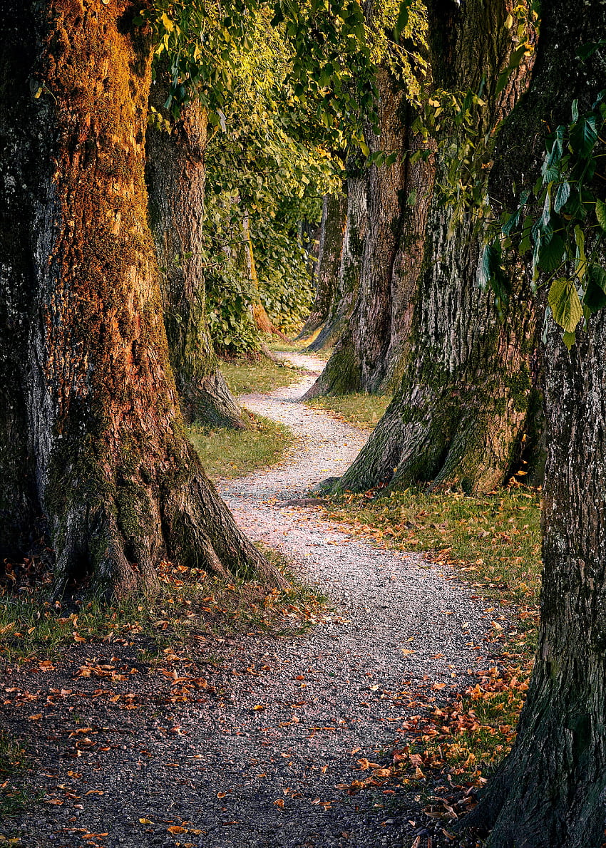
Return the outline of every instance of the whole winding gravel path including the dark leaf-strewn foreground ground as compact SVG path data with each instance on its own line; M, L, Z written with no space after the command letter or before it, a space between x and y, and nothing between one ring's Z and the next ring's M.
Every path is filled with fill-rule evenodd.
M444 566L356 538L308 496L368 432L300 404L323 362L285 355L308 376L241 401L290 427L295 448L220 489L329 609L282 637L207 633L161 665L117 638L5 664L0 723L23 741L39 795L0 822L0 845L448 844L450 787L425 779L409 731L496 665L494 613ZM391 780L394 762L411 778Z

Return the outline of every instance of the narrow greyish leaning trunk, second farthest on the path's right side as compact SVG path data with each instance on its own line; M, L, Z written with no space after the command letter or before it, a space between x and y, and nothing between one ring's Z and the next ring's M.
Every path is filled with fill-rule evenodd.
M358 161L356 161L356 159ZM308 350L317 351L334 343L344 334L360 290L362 250L368 229L368 189L361 156L347 162L345 235L339 263L336 289L328 316Z

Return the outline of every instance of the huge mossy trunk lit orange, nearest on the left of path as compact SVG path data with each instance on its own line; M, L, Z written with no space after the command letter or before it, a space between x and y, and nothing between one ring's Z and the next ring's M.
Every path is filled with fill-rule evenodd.
M90 574L125 594L166 556L281 582L184 436L147 225L151 46L136 10L5 11L0 544L44 516L57 592Z

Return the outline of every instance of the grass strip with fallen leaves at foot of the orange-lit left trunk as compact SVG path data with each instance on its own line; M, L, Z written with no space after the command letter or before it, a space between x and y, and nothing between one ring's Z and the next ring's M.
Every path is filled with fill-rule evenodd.
M18 581L0 579L0 662L38 662L58 656L65 645L144 641L167 645L225 633L304 633L326 607L317 589L301 585L278 552L263 553L287 578L288 589L268 588L254 580L233 582L206 572L163 563L158 587L143 598L102 605L87 597L87 586L72 589L63 604L47 600L50 575L20 573ZM14 576L15 566L4 566ZM30 579L31 577L31 579ZM143 638L143 639L142 639ZM149 647L148 649L149 653Z

